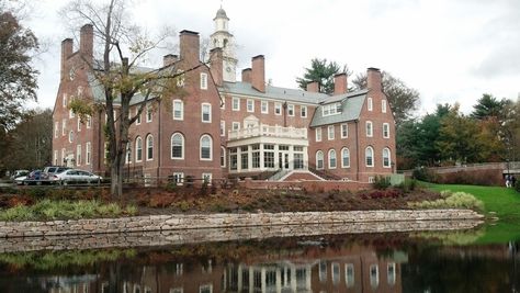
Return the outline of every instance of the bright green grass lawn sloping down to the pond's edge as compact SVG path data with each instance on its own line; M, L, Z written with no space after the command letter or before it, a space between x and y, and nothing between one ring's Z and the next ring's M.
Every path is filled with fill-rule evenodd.
M484 202L486 216L493 216L490 212L496 213L499 221L485 226L486 233L478 243L520 240L520 193L513 189L431 183L427 183L427 187L436 191L451 190L471 193Z

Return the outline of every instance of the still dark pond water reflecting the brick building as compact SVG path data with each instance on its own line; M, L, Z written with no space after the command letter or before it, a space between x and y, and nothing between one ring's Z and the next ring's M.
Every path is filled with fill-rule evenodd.
M324 235L0 253L0 292L517 292L516 243L476 238Z

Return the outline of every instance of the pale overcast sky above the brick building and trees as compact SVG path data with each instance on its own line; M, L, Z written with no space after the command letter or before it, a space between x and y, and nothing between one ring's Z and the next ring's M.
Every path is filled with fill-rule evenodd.
M36 61L38 104L53 108L60 42L70 37L57 11L66 0L34 1L26 23L48 42ZM221 0L134 0L133 19L207 37ZM520 92L519 0L224 0L238 44L238 70L265 56L265 78L296 88L314 57L355 74L377 67L420 92L418 114L459 102L471 112L483 93L516 100ZM160 59L161 56L157 56Z

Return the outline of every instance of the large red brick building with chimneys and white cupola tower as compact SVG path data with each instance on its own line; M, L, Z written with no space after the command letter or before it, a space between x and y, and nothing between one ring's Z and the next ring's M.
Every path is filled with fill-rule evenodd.
M167 55L165 66L195 68L179 79L182 94L147 101L146 111L131 126L125 171L128 176L166 178L253 177L344 179L372 181L395 166L395 126L381 72L368 69L368 89L348 91L347 75L335 77L332 95L273 87L265 82L264 56L237 81L237 58L229 19L221 8L214 18L210 64L200 60L200 37L180 33L179 55ZM80 44L61 44L61 77L54 108L53 159L104 173L108 169L98 111L81 122L72 99L103 100L103 91L86 63L93 58L93 29L81 29ZM131 113L145 102L136 95Z

